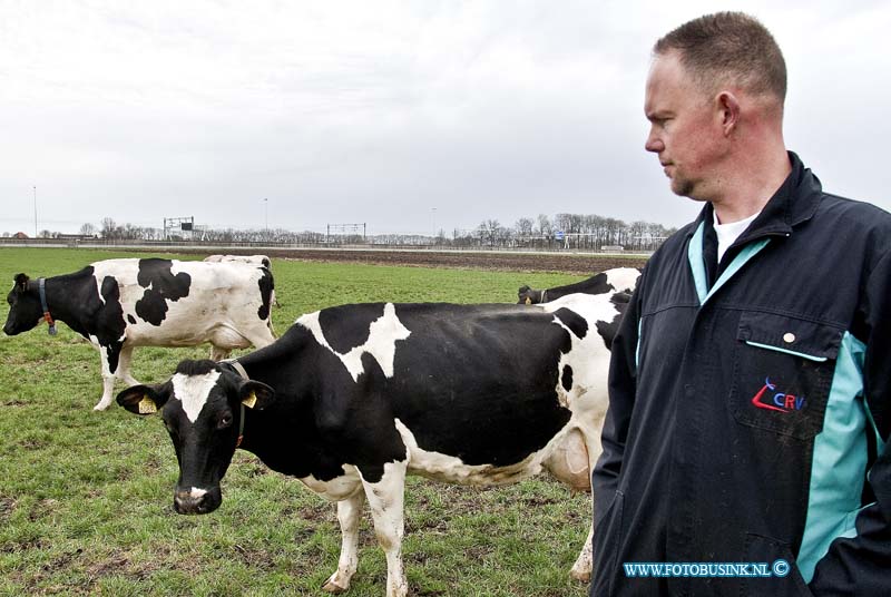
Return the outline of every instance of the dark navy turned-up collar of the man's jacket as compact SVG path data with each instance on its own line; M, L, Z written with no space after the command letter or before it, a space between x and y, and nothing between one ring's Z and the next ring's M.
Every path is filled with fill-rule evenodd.
M810 168L804 167L793 151L789 151L789 160L792 163L792 172L733 246L767 236L790 236L795 226L807 222L816 213L823 192L820 179ZM689 228L688 236L693 236L702 223L711 226L713 214L712 203L706 203Z

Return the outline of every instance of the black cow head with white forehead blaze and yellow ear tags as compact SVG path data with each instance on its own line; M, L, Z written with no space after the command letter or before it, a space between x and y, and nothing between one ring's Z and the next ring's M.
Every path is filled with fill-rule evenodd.
M227 365L183 361L167 382L134 385L117 400L136 414L160 411L179 462L174 509L180 515L203 515L223 501L219 481L238 443L242 405L262 410L274 395L268 385L245 381Z

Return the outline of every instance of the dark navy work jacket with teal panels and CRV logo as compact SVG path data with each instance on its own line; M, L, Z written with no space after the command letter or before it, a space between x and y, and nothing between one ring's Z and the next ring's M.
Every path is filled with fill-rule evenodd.
M891 594L891 215L790 159L721 264L708 204L644 270L613 344L591 595Z

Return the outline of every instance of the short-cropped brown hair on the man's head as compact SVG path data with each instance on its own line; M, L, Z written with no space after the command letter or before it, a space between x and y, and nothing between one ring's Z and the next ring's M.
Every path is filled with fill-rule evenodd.
M687 72L709 92L728 82L753 94L786 97L786 62L771 32L744 12L716 12L688 21L653 47L677 50Z

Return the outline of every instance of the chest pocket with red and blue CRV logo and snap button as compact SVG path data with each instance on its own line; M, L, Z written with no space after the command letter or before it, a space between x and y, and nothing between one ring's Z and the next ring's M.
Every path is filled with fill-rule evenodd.
M816 435L842 334L807 320L744 312L730 399L736 421L801 440Z

